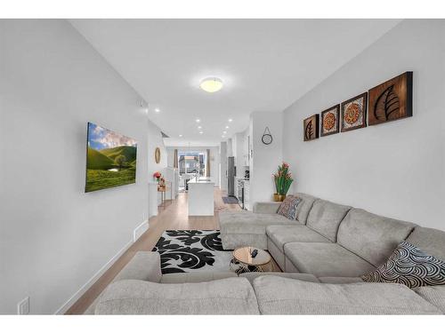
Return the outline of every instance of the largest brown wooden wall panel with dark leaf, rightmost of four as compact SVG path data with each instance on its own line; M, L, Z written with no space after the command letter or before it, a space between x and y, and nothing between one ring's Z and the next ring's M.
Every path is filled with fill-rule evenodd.
M413 115L413 72L393 77L368 91L369 126Z

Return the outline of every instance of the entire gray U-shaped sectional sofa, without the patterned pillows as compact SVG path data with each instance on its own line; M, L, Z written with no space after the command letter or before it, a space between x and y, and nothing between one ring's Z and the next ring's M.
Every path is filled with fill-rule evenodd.
M283 273L166 274L156 252L138 252L86 313L443 314L445 286L409 289L360 279L404 240L445 260L445 232L349 206L303 198L295 220L279 202L221 212L223 248L269 250Z

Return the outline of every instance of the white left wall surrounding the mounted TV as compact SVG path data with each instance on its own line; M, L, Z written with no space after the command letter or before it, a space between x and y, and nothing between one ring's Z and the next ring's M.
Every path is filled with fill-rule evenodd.
M0 50L0 313L55 313L147 218L147 115L65 20L0 20ZM89 121L138 141L136 184L85 194Z

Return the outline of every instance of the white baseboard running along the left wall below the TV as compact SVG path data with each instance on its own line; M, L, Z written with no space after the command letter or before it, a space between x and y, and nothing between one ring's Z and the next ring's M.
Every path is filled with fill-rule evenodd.
M134 229L132 240L130 242L127 242L121 250L118 250L117 253L112 258L110 258L109 261L104 266L102 266L101 269L97 271L90 280L88 280L80 289L78 289L73 296L69 297L69 300L61 305L61 307L54 314L66 313L69 308L74 305L82 295L85 294L86 290L90 289L91 286L93 286L93 284L99 280L102 274L104 274L109 269L109 267L111 267L116 262L116 260L120 258L139 237L141 237L141 235L145 232L145 230L148 229L148 227L148 220L143 221L141 225L137 226Z

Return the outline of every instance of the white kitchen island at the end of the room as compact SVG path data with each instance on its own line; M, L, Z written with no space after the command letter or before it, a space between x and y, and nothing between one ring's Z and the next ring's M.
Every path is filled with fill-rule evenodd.
M189 216L214 215L214 182L209 177L189 180Z

